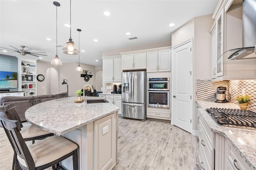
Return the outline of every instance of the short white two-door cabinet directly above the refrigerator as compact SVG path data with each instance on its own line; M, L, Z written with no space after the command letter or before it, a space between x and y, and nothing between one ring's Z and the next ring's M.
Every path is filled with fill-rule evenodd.
M122 69L146 69L146 53L122 55Z

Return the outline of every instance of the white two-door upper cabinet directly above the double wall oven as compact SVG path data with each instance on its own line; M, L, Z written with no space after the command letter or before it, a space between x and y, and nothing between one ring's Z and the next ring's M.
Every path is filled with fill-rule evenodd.
M147 72L171 71L171 50L147 52Z

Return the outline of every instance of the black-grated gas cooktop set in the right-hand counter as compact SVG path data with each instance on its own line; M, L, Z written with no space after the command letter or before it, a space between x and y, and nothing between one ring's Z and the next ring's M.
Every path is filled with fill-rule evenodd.
M206 109L212 119L220 126L249 128L256 130L256 113L240 109Z

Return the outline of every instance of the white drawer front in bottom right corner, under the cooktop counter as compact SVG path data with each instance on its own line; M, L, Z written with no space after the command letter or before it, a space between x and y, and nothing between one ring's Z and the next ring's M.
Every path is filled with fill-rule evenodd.
M228 141L226 144L226 161L225 169L234 169L234 170L249 170L250 167L245 162L245 160L238 154L232 144ZM230 167L232 166L232 168Z

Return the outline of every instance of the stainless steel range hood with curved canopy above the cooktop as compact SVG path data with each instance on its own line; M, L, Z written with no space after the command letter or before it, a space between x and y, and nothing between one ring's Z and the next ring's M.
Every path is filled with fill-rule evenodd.
M243 1L243 48L230 49L223 53L224 57L235 59L254 59L256 58L256 1L244 0ZM220 57L221 58L221 57Z

